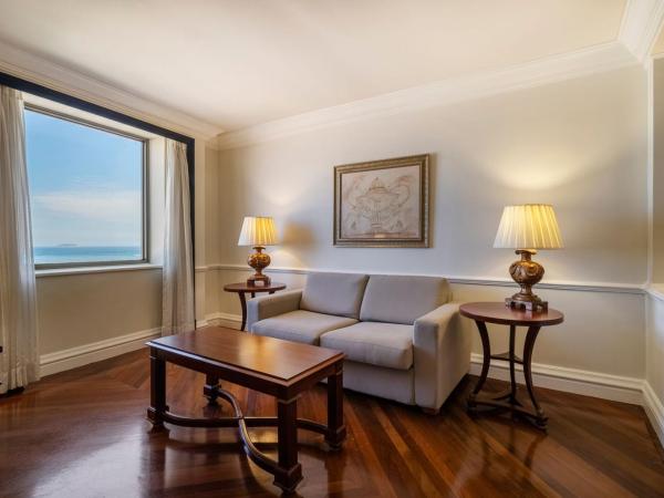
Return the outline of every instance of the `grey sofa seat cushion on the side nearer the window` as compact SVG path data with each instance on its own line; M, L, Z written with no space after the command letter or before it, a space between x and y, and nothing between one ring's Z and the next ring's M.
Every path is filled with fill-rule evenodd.
M345 317L297 310L260 320L251 325L251 332L269 338L319 345L319 338L324 332L349 326L355 322L356 320Z

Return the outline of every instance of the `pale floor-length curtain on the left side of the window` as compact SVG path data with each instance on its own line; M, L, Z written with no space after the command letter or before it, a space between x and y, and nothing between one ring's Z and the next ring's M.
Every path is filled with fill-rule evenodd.
M39 380L35 288L23 100L0 86L0 393Z

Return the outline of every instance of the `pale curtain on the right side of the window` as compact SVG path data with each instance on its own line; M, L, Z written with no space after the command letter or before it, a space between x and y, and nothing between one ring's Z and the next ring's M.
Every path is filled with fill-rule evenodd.
M195 329L189 172L185 144L166 141L162 335Z

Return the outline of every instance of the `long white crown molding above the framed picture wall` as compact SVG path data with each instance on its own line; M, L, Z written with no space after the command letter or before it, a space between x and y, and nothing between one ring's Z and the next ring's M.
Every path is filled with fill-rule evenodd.
M635 63L636 60L622 43L603 43L507 69L452 77L224 133L218 137L219 149L544 85Z

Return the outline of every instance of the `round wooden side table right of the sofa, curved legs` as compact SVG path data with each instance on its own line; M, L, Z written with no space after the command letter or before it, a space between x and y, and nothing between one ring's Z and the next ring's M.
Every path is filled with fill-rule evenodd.
M481 365L481 374L477 385L468 396L468 409L471 412L477 411L477 405L490 406L492 408L505 408L511 411L512 414L520 414L528 417L531 422L535 422L537 427L546 429L548 418L544 412L538 404L535 397L535 390L532 387L532 350L535 347L535 340L542 326L557 325L562 323L563 314L553 309L548 311L535 312L520 309L513 309L506 307L502 302L469 302L461 304L459 313L463 317L467 317L475 320L477 330L479 331L479 338L481 339L481 349L484 353L484 361ZM489 333L487 331L487 323L497 323L500 325L509 325L509 351L501 354L491 354L491 345L489 342ZM515 336L517 326L527 326L528 332L526 334L526 343L523 344L523 357L519 357L515 354ZM509 380L510 386L507 391L498 393L494 396L479 396L487 375L489 373L489 365L491 360L499 360L509 363ZM517 381L515 366L516 364L523 366L523 377L526 378L526 388L530 402L532 403L533 412L527 409L522 403L517 398Z

